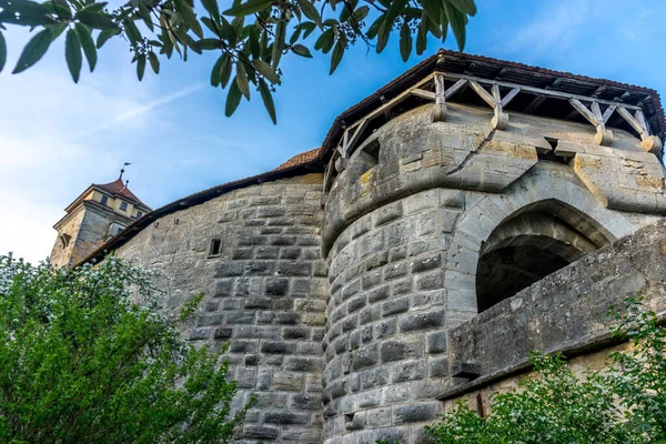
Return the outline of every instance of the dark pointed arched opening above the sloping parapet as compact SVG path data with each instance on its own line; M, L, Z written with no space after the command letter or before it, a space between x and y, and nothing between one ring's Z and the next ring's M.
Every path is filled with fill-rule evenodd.
M583 255L609 243L586 214L549 200L507 218L483 243L476 269L476 302L483 312Z

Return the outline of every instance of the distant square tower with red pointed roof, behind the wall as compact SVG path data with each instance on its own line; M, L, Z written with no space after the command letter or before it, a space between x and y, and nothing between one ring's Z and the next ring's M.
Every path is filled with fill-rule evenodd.
M58 239L51 251L54 266L70 266L84 260L109 239L150 211L122 182L93 183L64 211L53 229Z

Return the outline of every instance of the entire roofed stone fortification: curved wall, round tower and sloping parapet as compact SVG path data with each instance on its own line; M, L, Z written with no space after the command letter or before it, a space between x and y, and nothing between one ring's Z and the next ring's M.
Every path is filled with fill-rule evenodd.
M230 342L248 442L421 443L529 351L607 350L624 296L666 310L665 130L653 90L441 51L89 258L160 271L167 310L205 292L184 334Z

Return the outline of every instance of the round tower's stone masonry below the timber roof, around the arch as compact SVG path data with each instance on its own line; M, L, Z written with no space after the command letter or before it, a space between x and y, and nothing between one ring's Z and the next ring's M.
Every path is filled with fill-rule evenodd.
M325 443L423 442L423 426L444 408L436 396L473 372L491 372L477 362L486 349L463 342L466 334L457 342L466 359L453 359L451 335L491 316L477 317L477 265L497 226L547 213L578 233L569 242L584 239L588 252L658 220L653 214L665 209L658 160L623 131L614 131L612 149L597 149L585 125L512 114L507 131L494 131L483 109L450 104L446 122L433 122L430 110L408 111L376 130L326 198ZM557 140L555 149L545 137ZM557 148L574 159L545 159ZM637 163L622 169L629 158ZM584 168L625 176L612 173L614 183ZM618 211L629 201L635 212ZM531 220L543 221L523 223ZM543 222L528 229L539 234L537 246L556 236ZM497 341L512 332L500 322L484 333L496 334L487 344L495 355L526 357L539 343L505 350ZM547 333L544 343L551 337L554 349L566 345Z

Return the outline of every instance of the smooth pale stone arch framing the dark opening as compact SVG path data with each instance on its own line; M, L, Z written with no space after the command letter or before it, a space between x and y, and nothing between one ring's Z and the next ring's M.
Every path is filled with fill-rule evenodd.
M476 279L483 254L511 244L546 245L569 263L635 231L622 213L604 208L567 165L552 162L539 162L502 194L467 193L465 206L446 253L454 325L480 311ZM531 224L536 218L542 223Z

